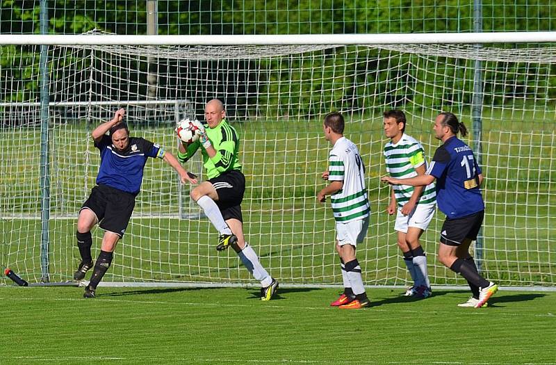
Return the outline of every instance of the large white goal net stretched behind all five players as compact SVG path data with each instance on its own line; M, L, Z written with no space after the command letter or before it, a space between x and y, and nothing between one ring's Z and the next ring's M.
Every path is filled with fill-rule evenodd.
M10 62L0 69L1 264L30 282L71 279L80 261L76 218L99 167L90 131L124 107L131 136L176 153L177 120L202 119L206 101L219 98L240 135L246 239L282 283L342 283L332 210L316 202L330 111L345 115L345 135L366 164L372 213L357 248L363 279L409 282L386 213L389 186L379 183L382 113L400 108L428 159L439 146L438 113L451 111L470 129L464 140L486 177L475 249L486 277L554 286L556 48L513 46L2 46ZM199 159L186 168L205 178ZM252 281L232 250L216 252L218 232L189 190L170 166L147 162L105 282ZM432 284L465 284L436 259L443 219L437 211L421 238ZM92 233L96 257L103 232Z

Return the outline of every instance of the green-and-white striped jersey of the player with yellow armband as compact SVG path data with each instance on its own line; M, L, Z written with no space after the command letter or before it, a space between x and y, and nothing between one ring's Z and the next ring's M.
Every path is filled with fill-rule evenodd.
M396 179L407 179L408 177L417 176L416 168L425 164L427 168L427 161L425 161L425 150L418 141L406 134L398 140L398 143L393 144L392 141L386 143L384 146L384 157L386 159L386 172L391 177ZM395 200L398 206L402 207L409 201L409 198L414 192L414 186L409 185L393 185ZM434 183L425 186L423 195L421 195L417 204L435 204L436 203L436 190Z

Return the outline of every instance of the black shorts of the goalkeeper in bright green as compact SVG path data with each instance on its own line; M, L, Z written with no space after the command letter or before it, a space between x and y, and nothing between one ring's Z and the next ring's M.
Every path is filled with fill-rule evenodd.
M213 179L208 179L208 181L211 181L218 194L216 205L220 208L222 218L224 220L236 218L243 222L241 215L241 202L243 202L243 193L245 193L243 173L240 170L231 170Z

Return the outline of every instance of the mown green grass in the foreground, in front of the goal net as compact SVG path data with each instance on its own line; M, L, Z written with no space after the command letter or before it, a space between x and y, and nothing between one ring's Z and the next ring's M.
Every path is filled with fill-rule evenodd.
M368 289L373 307L328 307L336 289L0 287L3 364L554 364L556 292L465 291L411 301Z

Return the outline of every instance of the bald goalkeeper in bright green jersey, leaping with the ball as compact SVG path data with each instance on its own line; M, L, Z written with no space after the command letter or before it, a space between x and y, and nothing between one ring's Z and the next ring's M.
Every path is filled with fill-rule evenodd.
M201 206L220 237L216 250L234 248L245 268L261 282L261 300L270 300L278 289L273 279L259 262L253 248L243 236L241 202L245 192L245 177L238 160L239 139L234 127L225 119L226 111L220 100L206 103L206 126L195 121L199 140L179 145L178 159L188 161L201 149L207 181L191 191L191 198Z

